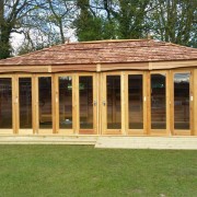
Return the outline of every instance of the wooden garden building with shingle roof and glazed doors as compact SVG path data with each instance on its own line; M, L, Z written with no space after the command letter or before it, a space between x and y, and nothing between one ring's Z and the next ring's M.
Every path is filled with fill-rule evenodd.
M0 135L197 136L197 49L67 43L0 60Z

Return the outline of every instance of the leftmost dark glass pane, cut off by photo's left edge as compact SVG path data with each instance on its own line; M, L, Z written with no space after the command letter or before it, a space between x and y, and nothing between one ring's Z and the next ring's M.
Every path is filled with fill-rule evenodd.
M12 128L12 80L0 79L0 128Z

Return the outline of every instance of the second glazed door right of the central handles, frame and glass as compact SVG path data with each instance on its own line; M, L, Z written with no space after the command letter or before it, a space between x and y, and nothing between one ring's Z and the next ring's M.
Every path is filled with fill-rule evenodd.
M126 74L126 130L128 135L144 135L146 83L143 72Z

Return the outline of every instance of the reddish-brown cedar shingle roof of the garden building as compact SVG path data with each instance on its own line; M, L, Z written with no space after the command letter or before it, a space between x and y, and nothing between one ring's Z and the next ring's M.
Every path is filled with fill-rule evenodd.
M152 39L70 43L0 60L0 66L63 66L171 60L197 60L197 49Z

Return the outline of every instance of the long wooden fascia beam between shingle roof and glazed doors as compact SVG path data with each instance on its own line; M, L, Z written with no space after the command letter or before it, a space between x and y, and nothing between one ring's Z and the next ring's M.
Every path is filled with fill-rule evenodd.
M48 65L48 66L0 66L0 73L24 72L24 73L60 73L60 72L104 72L121 70L161 70L193 68L197 66L197 60L182 61L147 61L130 63L83 63L83 65Z

